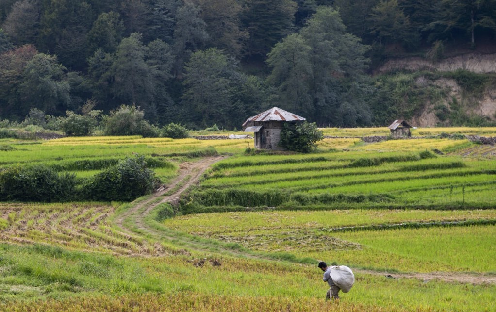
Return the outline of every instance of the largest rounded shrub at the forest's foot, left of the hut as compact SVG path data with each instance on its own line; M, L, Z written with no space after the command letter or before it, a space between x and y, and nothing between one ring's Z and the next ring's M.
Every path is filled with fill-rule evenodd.
M143 117L144 113L139 107L122 105L118 110L111 111L109 116L104 116L104 133L105 135L158 137L158 128L148 124Z

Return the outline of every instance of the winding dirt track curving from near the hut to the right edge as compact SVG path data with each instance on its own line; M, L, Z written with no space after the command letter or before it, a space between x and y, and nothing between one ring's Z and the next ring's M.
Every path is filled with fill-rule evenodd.
M159 204L166 202L174 202L179 199L181 194L186 189L196 184L201 178L202 174L210 168L210 166L218 161L221 161L228 156L213 156L205 157L197 162L186 162L180 165L178 177L171 182L167 187L155 192L146 200L137 201L130 209L118 215L115 223L126 234L133 236L145 236L157 242L171 242L174 241L176 245L186 253L188 250L195 251L210 251L218 252L221 254L229 254L232 256L241 256L246 258L264 258L262 255L246 253L240 250L230 250L222 246L205 246L203 243L198 243L185 237L177 237L173 231L167 229L157 229L145 222L146 216ZM156 244L157 245L157 244ZM160 255L160 251L153 254ZM386 276L387 278L416 278L425 282L437 279L445 282L457 282L468 284L496 284L496 275L488 274L471 274L463 272L429 272L429 273L388 273L378 272L364 269L353 269L356 273L372 274L378 276Z

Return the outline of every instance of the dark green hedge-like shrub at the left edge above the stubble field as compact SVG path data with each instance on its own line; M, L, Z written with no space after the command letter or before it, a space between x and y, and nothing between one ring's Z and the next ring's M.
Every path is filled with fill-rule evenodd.
M0 199L57 202L73 200L76 187L74 174L58 174L37 165L10 167L0 173Z

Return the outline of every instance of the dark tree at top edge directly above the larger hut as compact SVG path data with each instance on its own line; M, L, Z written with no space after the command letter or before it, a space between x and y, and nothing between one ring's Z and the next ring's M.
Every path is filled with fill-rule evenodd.
M246 0L246 6L243 22L249 34L247 54L265 57L292 32L297 4L291 0Z

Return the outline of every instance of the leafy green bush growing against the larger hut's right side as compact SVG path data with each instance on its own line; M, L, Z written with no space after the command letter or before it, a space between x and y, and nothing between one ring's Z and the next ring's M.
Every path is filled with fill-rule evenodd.
M317 142L324 134L315 123L285 124L281 131L279 146L296 152L310 153L317 148Z

